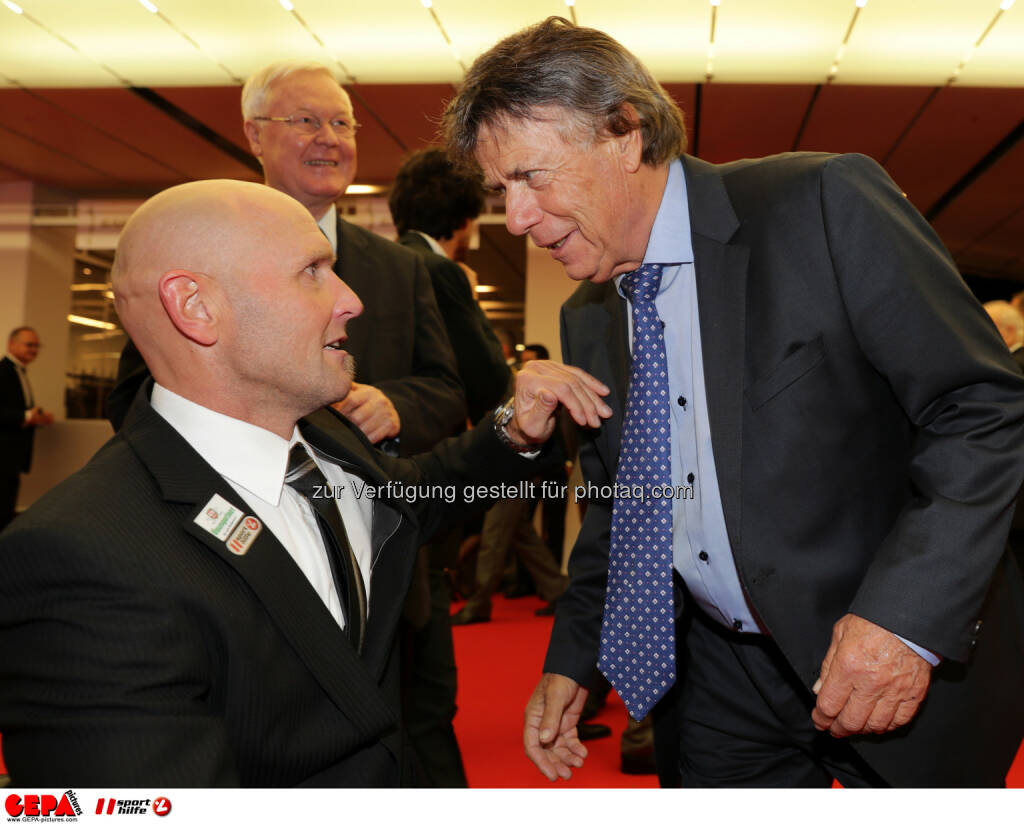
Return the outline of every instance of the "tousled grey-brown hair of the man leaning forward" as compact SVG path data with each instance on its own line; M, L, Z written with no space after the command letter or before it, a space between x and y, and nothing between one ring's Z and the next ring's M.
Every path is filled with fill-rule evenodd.
M603 32L548 17L505 38L470 67L441 121L452 159L472 165L481 127L538 120L536 110L544 105L567 110L595 136L639 129L641 158L649 166L686 148L683 113L634 54Z

